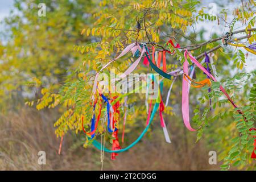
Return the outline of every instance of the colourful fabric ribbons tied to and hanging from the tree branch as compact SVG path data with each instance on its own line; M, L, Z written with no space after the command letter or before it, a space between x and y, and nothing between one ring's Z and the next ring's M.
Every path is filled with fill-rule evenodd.
M169 40L167 44L171 44L171 46L174 48L180 48L179 44L176 44L176 46L175 46L174 43L172 42L172 40ZM230 45L239 46L238 44L233 45L231 43L230 43ZM241 46L241 47L243 47L243 46ZM253 45L251 45L249 47L245 47L245 48L246 48L246 50L250 49L250 52L251 51L255 52L254 50L256 49L256 44L253 44ZM150 49L151 49L151 53L150 53ZM170 53L172 55L175 53L175 50L172 52L168 51L168 50L156 51L155 46L152 46L150 49L144 43L132 43L129 46L127 46L125 49L123 49L123 51L120 53L120 55L118 55L117 57L115 57L115 59L113 59L108 64L106 64L104 67L102 67L100 72L103 69L105 69L106 67L108 67L108 65L110 63L113 63L113 61L119 59L120 57L126 55L127 53L129 53L131 51L131 53L133 53L133 56L138 57L138 59L135 60L134 63L131 64L130 67L125 72L123 72L121 76L119 76L118 78L115 78L114 81L118 81L118 80L126 77L127 75L129 75L129 73L133 72L134 69L138 66L142 57L144 56L143 64L146 65L147 67L149 67L149 65L150 65L151 69L154 70L155 72L157 72L160 76L167 78L169 80L171 80L172 76L175 76L174 80L172 81L170 90L168 92L167 101L166 101L166 106L167 106L168 98L170 97L172 85L174 84L176 76L177 76L177 74L179 74L179 72L167 73L166 53ZM191 65L190 75L188 75L188 68L189 68L188 60L187 60L188 57L193 63ZM211 91L210 90L211 82L217 81L216 78L214 77L214 76L216 76L216 69L214 67L212 60L209 59L209 56L207 55L207 53L205 53L205 60L201 62L201 63L204 63L204 62L206 63L206 65L207 65L206 68L203 67L203 65L201 65L199 63L199 61L197 61L195 59L195 57L193 57L191 55L191 53L189 53L187 50L185 50L185 52L184 52L184 58L185 58L185 61L183 63L183 71L181 71L181 74L183 75L181 111L182 111L185 127L187 127L187 129L190 131L196 131L196 129L193 129L193 127L191 126L191 124L189 122L189 88L190 88L190 86L192 86L194 88L201 88L203 86L208 86L209 87L208 92L210 92ZM209 64L212 66L212 69L209 68ZM195 74L195 66L198 67L201 71L203 71L204 74L207 75L207 78L205 78L202 81L193 80L193 75ZM212 75L212 71L213 71L214 76ZM96 77L94 79L94 84L93 84L93 91L92 91L92 97L91 97L92 101L93 101L93 115L92 115L92 119L91 119L90 133L85 131L84 117L82 117L82 129L83 129L84 133L86 134L87 138L92 140L93 145L96 148L98 148L98 150L112 153L112 159L115 159L115 156L117 156L119 152L129 150L131 147L133 147L135 144L137 144L139 142L139 140L142 139L142 137L144 136L144 134L146 134L148 128L150 127L152 120L154 119L154 115L158 109L159 109L159 116L160 116L160 126L163 128L164 137L166 139L166 142L171 143L171 140L170 140L170 137L169 137L169 134L167 131L166 123L164 122L164 117L163 117L164 103L163 103L162 96L161 96L161 92L163 89L163 81L160 81L158 97L154 101L155 104L154 104L153 109L152 109L153 101L152 100L150 102L146 101L146 103L150 103L150 104L149 104L149 106L147 106L148 115L147 115L145 129L142 131L141 135L139 135L139 137L133 143L131 143L129 146L127 146L125 148L121 148L121 146L119 144L119 140L118 140L118 127L117 127L118 122L119 122L119 113L120 113L119 112L119 107L120 107L119 100L121 99L121 97L126 97L125 107L127 107L127 94L123 94L122 96L119 96L119 97L115 96L110 99L105 97L104 94L102 93L102 91L100 90L100 88L98 88L98 84L101 83L101 81L98 81L98 75L100 72L96 73ZM155 81L154 78L152 78L151 81L154 82ZM228 98L228 101L233 105L233 107L237 108L237 105L234 104L234 101L232 100L232 98L230 98L230 96L228 95L228 93L226 93L225 89L222 86L220 86L220 90ZM97 91L98 91L98 94L97 94ZM211 103L211 100L210 100L210 103ZM99 105L97 118L96 118L96 111L95 111L96 104ZM108 118L108 122L106 123L106 128L109 131L109 133L112 134L112 137L114 138L113 142L112 142L112 150L106 148L105 146L102 146L102 143L97 142L97 140L94 139L94 136L97 131L98 122L100 121L100 117L101 117L102 106L104 106L104 104L106 104L106 117ZM237 109L237 111L238 111L238 113L243 114L241 110ZM122 142L124 139L126 115L127 115L127 108L125 108L125 117L123 119ZM255 143L256 143L256 139L255 139ZM254 151L253 151L253 154L254 154ZM253 154L251 155L251 158L255 158L255 154L254 155Z

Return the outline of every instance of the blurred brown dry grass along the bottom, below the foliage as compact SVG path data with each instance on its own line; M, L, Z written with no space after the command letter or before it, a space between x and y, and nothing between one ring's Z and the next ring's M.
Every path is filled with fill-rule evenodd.
M100 151L82 147L82 137L64 137L62 154L58 155L60 139L53 122L55 111L36 111L27 107L0 116L1 170L100 170ZM208 164L208 151L202 143L194 144L187 131L177 132L172 126L172 143L164 142L162 131L155 127L152 135L127 152L110 160L105 154L108 170L203 170L218 169ZM136 136L133 136L133 138ZM129 140L131 136L127 136ZM126 144L126 143L125 143ZM38 152L46 151L46 165L38 164Z

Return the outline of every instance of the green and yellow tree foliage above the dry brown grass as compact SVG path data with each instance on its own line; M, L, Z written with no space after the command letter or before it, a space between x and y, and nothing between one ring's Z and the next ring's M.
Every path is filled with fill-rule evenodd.
M213 141L210 144L219 148L221 153L222 169L231 166L255 168L250 159L255 131L249 131L255 126L255 71L245 71L247 52L242 48L230 51L231 46L225 46L226 41L239 41L245 35L249 35L243 39L246 44L255 42L255 31L250 31L255 23L254 1L233 7L232 10L222 9L217 15L205 12L200 1L195 0L47 1L45 18L36 16L38 3L18 1L15 6L22 15L12 15L6 19L10 38L0 51L3 60L0 67L2 110L6 109L4 103L14 94L30 93L23 96L27 105L35 106L38 110L46 107L59 109L61 116L54 124L58 137L69 130L80 133L81 117L85 117L85 129L89 130L90 126L94 73L100 71L128 44L147 43L158 50L164 48L172 52L174 48L167 44L168 40L179 43L181 49L175 49L173 56L167 56L168 71L182 68L184 49L199 56L221 45L213 56L219 82L212 82L210 93L206 87L191 89L192 121L193 125L200 127L197 140L204 135ZM232 18L232 22L228 22L228 18ZM221 28L227 26L229 33L240 30L241 24L245 30L236 34L240 36L225 37L215 33L210 38L203 30L195 31L197 24L204 22L213 22ZM207 40L221 38L205 43L205 36ZM125 56L114 61L111 68L115 73L122 73L133 61L131 55ZM107 67L103 72L109 74L109 71L110 67ZM154 71L141 65L135 72ZM196 79L203 78L205 75L196 68ZM181 116L181 110L179 107L177 109L181 100L175 96L181 92L181 79L177 78L171 103L164 110L165 115L170 115L168 118L172 115ZM171 82L164 80L164 98ZM233 109L224 98L219 89L220 84L224 85L244 115L237 113L237 109ZM210 99L212 105L209 105ZM123 101L124 98L121 103ZM138 122L146 119L143 103L144 96L129 95L127 131L133 130L134 126L144 126L144 122ZM122 105L120 119L124 115L123 108ZM99 128L98 133L103 134L104 129ZM111 135L107 137L111 142ZM88 144L87 140L85 146Z

